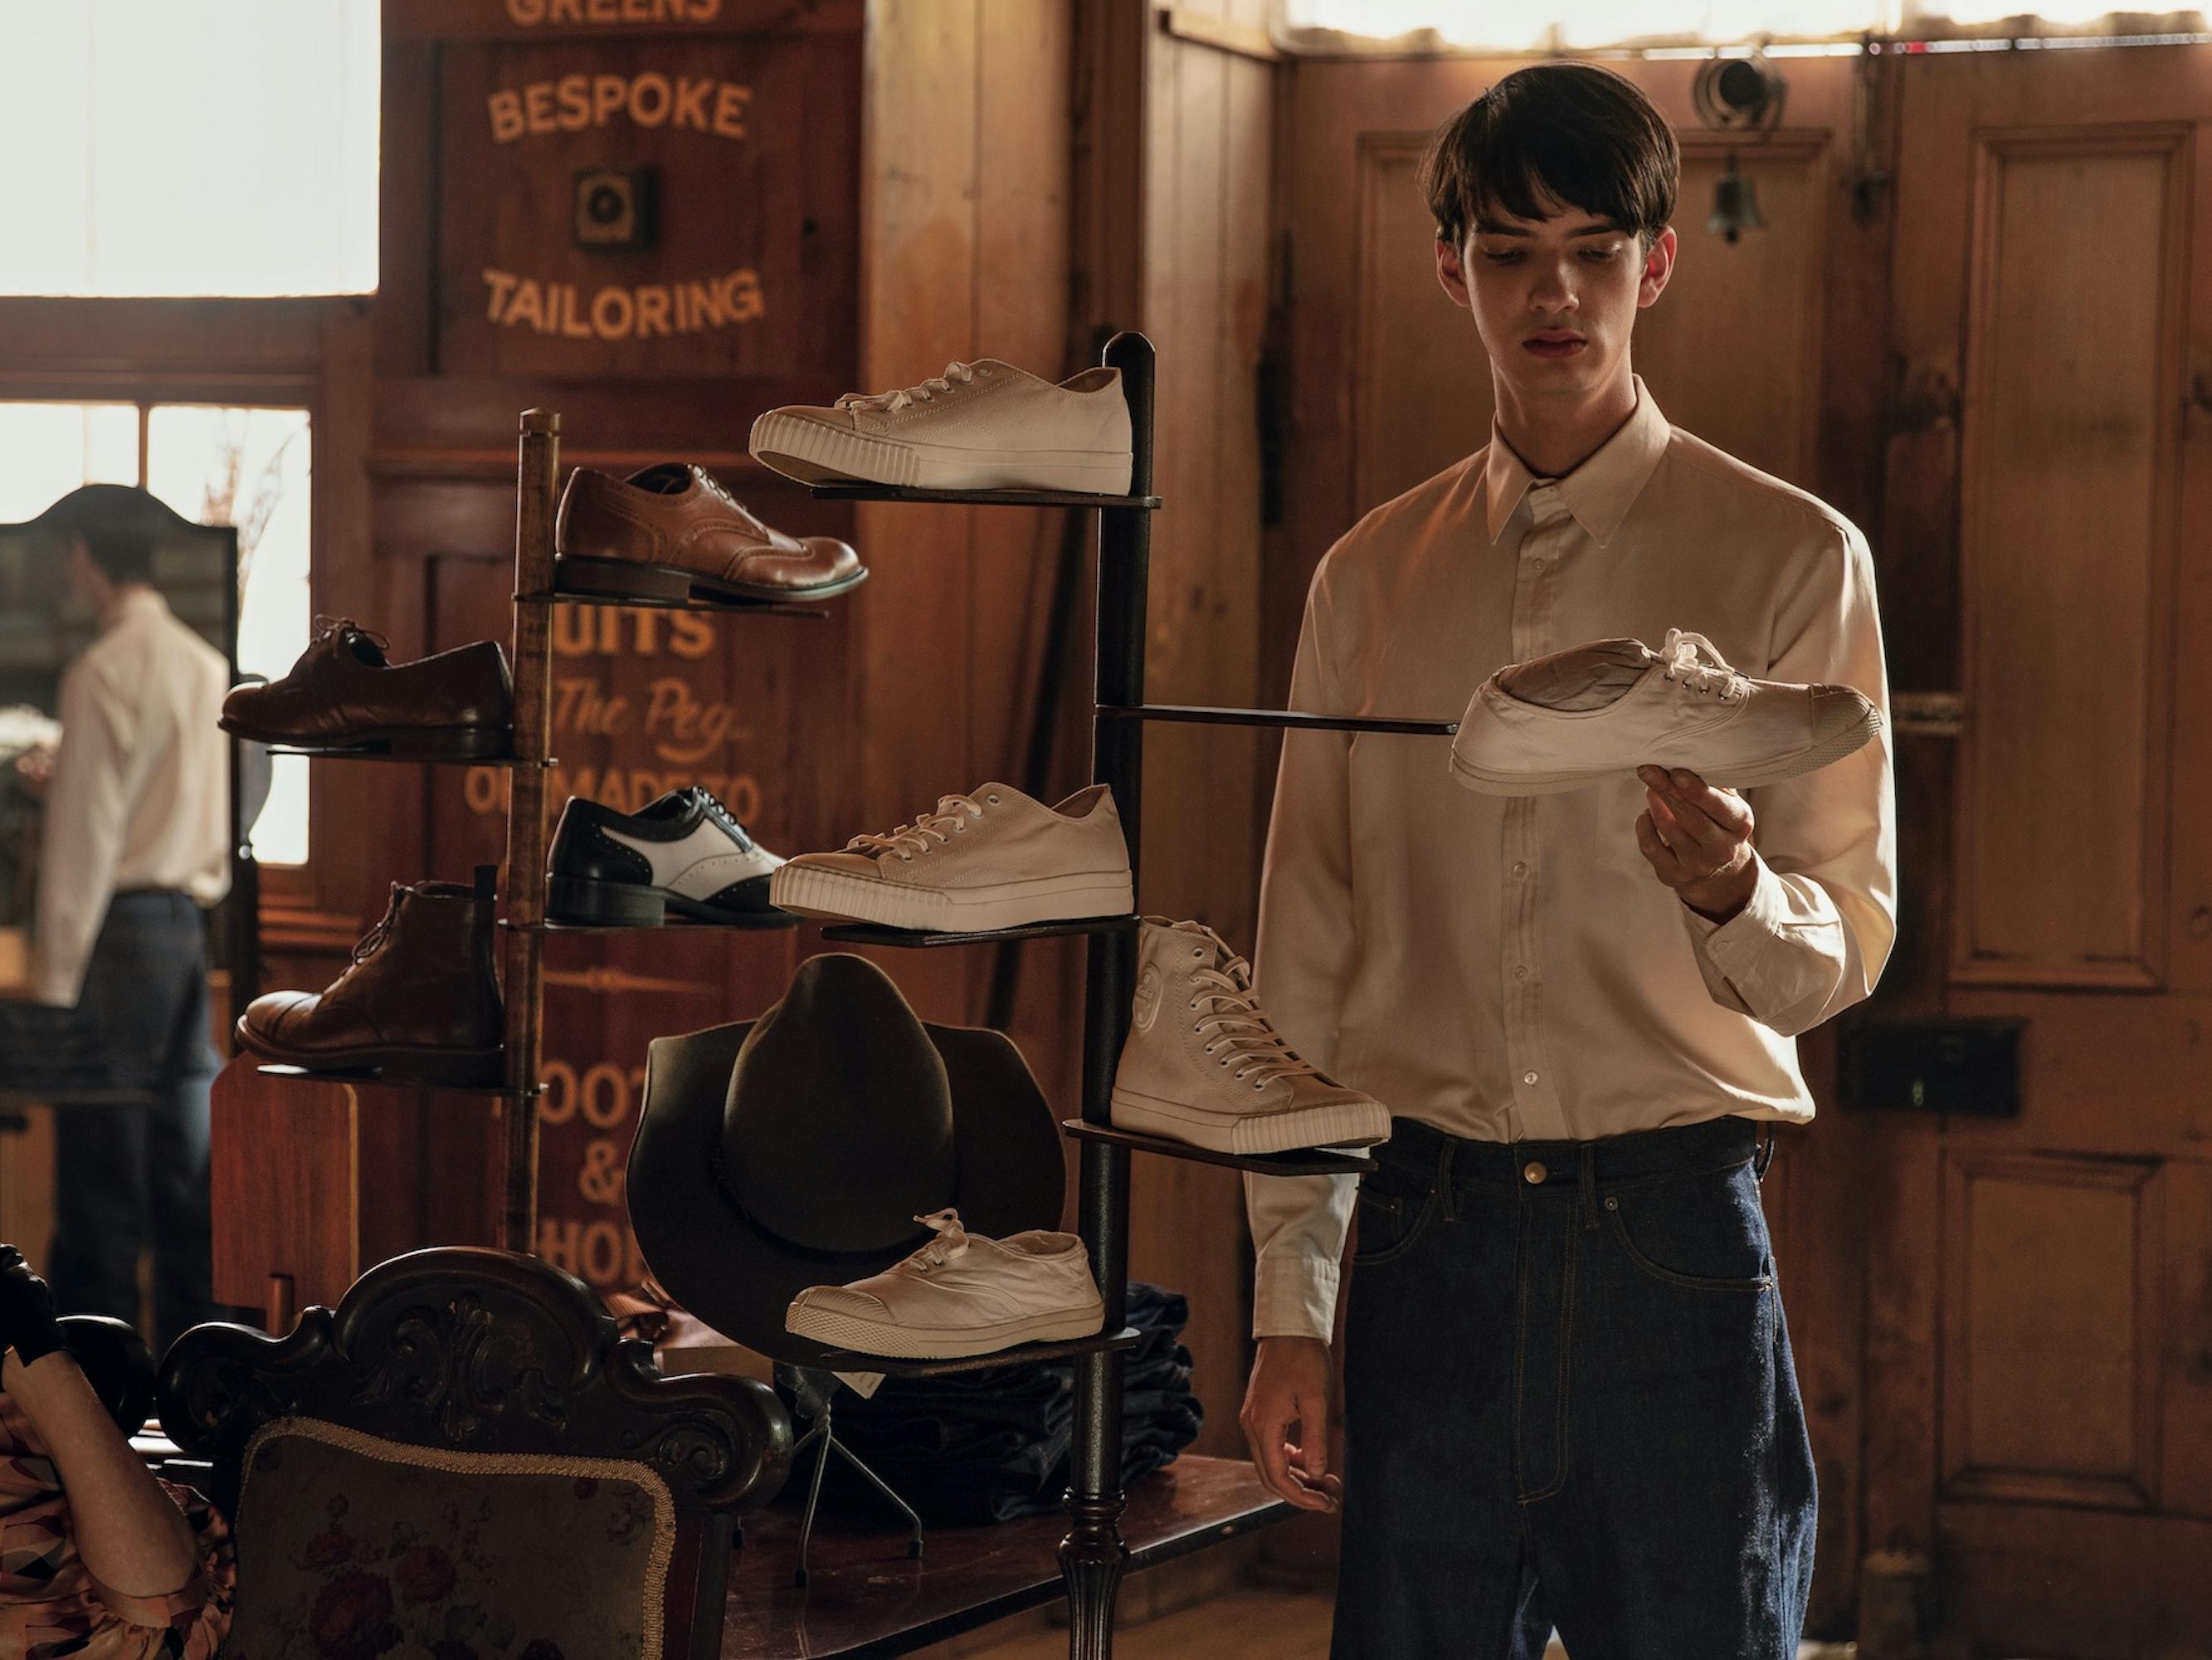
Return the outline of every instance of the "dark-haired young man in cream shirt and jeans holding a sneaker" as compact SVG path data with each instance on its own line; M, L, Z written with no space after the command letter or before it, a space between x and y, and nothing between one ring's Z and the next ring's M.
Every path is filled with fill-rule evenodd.
M1506 664L1679 626L1887 710L1858 529L1630 370L1677 177L1644 93L1586 64L1444 126L1436 266L1495 432L1321 562L1294 708L1458 713ZM1814 1474L1754 1120L1812 1116L1794 1038L1874 987L1893 863L1880 739L1750 797L1652 766L1493 797L1433 739L1285 739L1259 992L1394 1113L1358 1184L1245 1182L1245 1434L1294 1505L1343 1498L1338 1660L1528 1660L1553 1625L1575 1660L1794 1656Z

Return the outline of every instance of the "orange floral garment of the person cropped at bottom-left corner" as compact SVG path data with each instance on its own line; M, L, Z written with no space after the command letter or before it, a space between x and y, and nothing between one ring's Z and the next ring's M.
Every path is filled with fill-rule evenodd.
M124 1596L84 1567L53 1459L0 1394L0 1656L212 1660L230 1629L230 1529L190 1487L161 1485L192 1523L199 1567L170 1596Z

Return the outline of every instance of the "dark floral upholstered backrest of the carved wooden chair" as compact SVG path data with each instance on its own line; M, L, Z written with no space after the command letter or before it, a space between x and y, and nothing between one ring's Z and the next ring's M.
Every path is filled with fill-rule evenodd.
M675 1505L653 1470L254 1436L228 1660L659 1660Z

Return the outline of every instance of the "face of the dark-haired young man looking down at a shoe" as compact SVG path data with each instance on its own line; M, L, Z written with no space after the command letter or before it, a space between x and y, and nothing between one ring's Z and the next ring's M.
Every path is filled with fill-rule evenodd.
M1460 248L1436 243L1436 274L1498 376L1524 398L1582 398L1628 365L1637 312L1674 270L1674 232L1650 250L1615 224L1559 201L1542 219L1484 217ZM1500 387L1504 390L1504 387Z

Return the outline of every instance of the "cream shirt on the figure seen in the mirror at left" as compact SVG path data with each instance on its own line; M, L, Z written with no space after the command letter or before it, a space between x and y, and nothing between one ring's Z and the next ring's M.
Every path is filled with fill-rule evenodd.
M38 863L38 1000L75 1007L126 888L212 905L230 888L230 666L153 589L115 604L62 675L62 748Z

